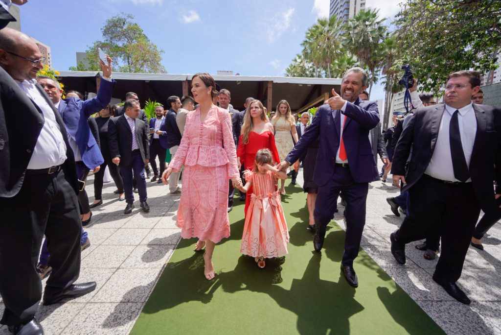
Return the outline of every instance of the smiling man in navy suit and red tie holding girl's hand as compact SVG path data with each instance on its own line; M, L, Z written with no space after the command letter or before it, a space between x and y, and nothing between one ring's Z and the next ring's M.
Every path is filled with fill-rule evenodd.
M333 219L337 198L346 200L346 238L341 262L348 283L358 286L353 260L358 255L365 225L365 205L369 182L379 180L369 131L379 122L375 101L362 101L358 95L367 87L367 74L359 67L349 69L341 83L341 96L334 89L328 104L321 106L294 149L279 169L287 169L306 152L310 143L320 139L313 181L318 185L315 203L317 232L313 245L320 252L327 224ZM344 126L343 126L344 125Z

